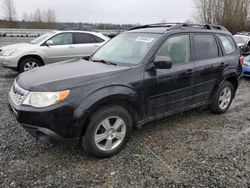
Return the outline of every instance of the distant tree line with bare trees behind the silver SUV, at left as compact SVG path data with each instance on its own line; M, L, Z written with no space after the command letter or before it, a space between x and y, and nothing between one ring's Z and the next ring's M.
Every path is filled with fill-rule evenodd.
M59 23L56 22L56 12L54 9L41 10L39 8L33 13L24 12L22 19L18 20L13 0L2 0L2 10L4 19L0 19L0 28L127 30L137 26L133 24L109 23Z

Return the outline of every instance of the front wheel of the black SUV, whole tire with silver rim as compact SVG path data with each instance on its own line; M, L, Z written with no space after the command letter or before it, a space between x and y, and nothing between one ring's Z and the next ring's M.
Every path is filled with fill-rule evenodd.
M116 122L120 125L117 130L114 128ZM124 149L131 132L132 119L127 110L121 106L105 106L90 117L85 135L81 139L81 146L88 155L97 158L111 157Z

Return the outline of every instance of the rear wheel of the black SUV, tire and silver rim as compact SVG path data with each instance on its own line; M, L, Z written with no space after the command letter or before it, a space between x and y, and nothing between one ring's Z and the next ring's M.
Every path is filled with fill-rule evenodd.
M209 109L215 114L225 113L232 103L234 92L233 85L230 82L225 81L216 90L212 103L209 105Z

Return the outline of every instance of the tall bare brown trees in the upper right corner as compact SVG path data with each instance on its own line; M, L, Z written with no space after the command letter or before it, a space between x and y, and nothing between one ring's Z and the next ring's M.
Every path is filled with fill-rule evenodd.
M223 25L232 33L250 29L250 0L194 0L202 23Z

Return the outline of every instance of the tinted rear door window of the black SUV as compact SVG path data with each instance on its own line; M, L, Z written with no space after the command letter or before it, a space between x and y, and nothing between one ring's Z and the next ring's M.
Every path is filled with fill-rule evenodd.
M213 59L219 56L219 48L212 34L194 34L195 60Z

